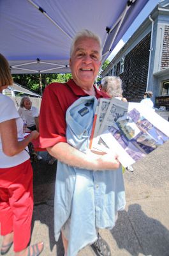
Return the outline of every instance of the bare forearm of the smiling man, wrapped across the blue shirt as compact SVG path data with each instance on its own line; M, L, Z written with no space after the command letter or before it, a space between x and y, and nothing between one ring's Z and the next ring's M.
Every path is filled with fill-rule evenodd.
M64 142L47 148L47 151L62 163L86 170L113 170L119 168L120 165L117 156L113 153L104 156L99 156L92 152L84 154Z

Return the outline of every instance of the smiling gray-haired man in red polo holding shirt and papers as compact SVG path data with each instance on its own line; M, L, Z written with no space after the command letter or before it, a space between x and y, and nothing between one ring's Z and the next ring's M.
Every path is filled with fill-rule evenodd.
M52 83L45 88L40 110L40 143L59 162L85 170L113 170L119 168L117 156L84 154L71 147L66 140L66 110L80 97L94 95L108 97L93 85L101 65L101 40L91 31L84 30L73 40L70 52L70 68L73 79L67 83ZM58 172L58 170L57 170ZM58 173L57 173L58 175ZM56 177L56 179L58 179ZM64 191L63 191L64 192ZM68 239L62 232L64 255L67 255ZM98 236L94 243L98 255L109 256L110 250ZM68 255L69 256L69 255ZM71 255L72 256L72 255Z

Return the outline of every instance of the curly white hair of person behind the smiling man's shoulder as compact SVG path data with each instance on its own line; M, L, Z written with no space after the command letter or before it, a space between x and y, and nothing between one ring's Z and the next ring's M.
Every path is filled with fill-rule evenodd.
M103 81L102 88L110 97L122 97L122 81L120 77L106 76Z

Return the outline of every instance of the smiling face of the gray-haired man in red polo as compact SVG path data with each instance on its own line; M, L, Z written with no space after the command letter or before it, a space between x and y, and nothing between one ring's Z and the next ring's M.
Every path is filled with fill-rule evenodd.
M91 90L101 65L99 43L92 38L80 38L70 58L73 80L84 90Z

